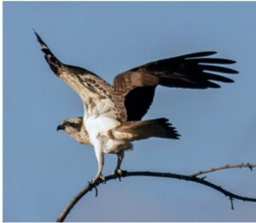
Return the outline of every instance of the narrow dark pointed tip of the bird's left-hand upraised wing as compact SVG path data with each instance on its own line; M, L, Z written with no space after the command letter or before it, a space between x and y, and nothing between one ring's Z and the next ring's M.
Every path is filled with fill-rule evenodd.
M47 46L46 43L44 43L43 39L38 35L36 31L35 35L38 38L38 42L41 45L41 50L44 52L44 58L49 64L49 67L51 68L52 71L55 72L57 76L59 76L59 71L61 69L62 63L60 60L58 60L55 55L50 51L49 47Z

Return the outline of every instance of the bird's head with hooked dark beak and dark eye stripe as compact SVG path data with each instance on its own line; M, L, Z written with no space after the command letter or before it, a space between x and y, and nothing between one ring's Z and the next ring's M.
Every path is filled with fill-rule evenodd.
M84 129L83 117L69 117L57 126L80 143L90 144L88 133Z

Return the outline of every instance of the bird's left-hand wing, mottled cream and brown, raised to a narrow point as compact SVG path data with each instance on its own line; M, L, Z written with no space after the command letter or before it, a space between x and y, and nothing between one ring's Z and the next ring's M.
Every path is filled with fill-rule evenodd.
M79 94L84 104L85 119L90 116L101 115L112 117L120 122L126 120L124 98L117 94L113 86L91 71L61 63L49 50L42 38L36 32L35 34L51 70Z

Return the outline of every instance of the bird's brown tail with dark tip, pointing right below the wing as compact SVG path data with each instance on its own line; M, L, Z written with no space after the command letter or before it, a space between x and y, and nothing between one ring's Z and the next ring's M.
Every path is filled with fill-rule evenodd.
M150 137L179 139L180 134L166 118L123 123L113 131L113 136L123 140L143 140Z

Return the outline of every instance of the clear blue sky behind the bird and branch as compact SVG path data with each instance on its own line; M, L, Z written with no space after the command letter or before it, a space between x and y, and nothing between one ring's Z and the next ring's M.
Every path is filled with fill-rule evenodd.
M92 147L64 132L83 114L79 97L50 71L34 28L63 62L112 83L121 71L180 54L216 50L236 60L221 89L157 89L144 118L167 117L181 140L143 140L123 169L192 174L256 163L256 3L3 3L3 220L54 221L96 174ZM230 77L228 75L228 77ZM106 156L110 174L116 157ZM256 197L256 172L223 170L207 179ZM69 221L252 221L256 203L230 200L182 180L109 181Z

